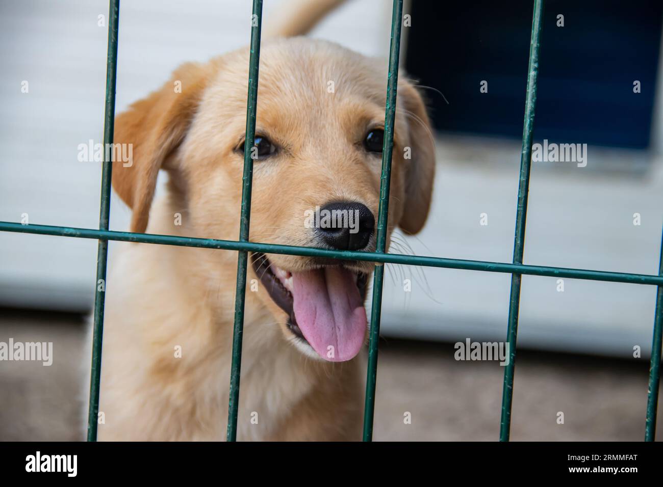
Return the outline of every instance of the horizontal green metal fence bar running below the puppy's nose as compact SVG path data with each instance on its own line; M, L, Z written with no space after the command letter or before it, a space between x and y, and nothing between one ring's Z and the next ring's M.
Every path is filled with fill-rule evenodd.
M324 248L300 247L255 242L236 242L216 239L197 239L195 237L176 237L174 235L154 235L151 233L131 233L80 229L73 227L54 227L51 225L21 225L9 221L0 221L0 231L54 235L58 237L77 237L79 239L101 239L119 242L136 242L162 245L177 245L198 248L217 248L222 250L248 250L265 254L287 254L306 257L328 257L341 260L361 260L365 262L386 262L408 266L441 267L448 269L481 270L485 272L505 272L508 274L526 274L529 276L547 276L590 281L625 282L627 284L646 284L663 286L663 276L651 274L631 274L628 272L609 272L604 270L585 270L566 267L532 266L489 262L486 260L464 260L444 257L428 257L403 254L385 254L381 252L357 252L354 250L326 250Z

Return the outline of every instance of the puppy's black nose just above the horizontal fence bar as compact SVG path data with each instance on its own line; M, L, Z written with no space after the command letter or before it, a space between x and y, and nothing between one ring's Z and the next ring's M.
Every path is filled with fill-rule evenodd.
M318 210L316 231L324 243L339 250L359 250L368 245L375 217L365 205L353 201L328 203Z

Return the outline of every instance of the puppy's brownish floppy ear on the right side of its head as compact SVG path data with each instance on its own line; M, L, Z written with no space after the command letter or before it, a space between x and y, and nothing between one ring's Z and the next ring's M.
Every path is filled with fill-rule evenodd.
M426 105L409 81L398 86L398 98L406 110L410 159L405 162L405 201L398 226L409 234L426 223L435 176L435 143Z

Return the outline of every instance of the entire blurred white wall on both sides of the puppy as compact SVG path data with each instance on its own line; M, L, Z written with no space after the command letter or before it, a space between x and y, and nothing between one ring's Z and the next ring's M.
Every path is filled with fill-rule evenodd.
M279 3L266 0L266 15ZM386 63L390 4L350 1L312 35ZM124 1L117 111L156 89L178 64L247 44L250 10L245 0ZM97 27L97 18L107 16L107 2L25 0L2 3L0 14L0 219L21 221L27 213L30 223L96 228L100 167L76 156L78 144L102 139L107 28ZM22 81L29 93L21 93ZM433 209L423 233L406 239L412 250L511 262L519 160L517 141L438 140ZM656 153L598 148L589 148L587 168L534 164L525 263L655 274L662 168ZM489 225L479 224L481 213ZM642 215L641 225L633 225L633 213ZM111 229L126 229L128 217L114 197ZM88 309L95 260L95 241L0 233L0 305ZM506 336L509 275L387 269L385 335ZM403 289L406 279L411 292ZM554 278L524 277L520 345L622 356L640 345L648 353L654 288L578 280L566 280L564 292L557 286Z

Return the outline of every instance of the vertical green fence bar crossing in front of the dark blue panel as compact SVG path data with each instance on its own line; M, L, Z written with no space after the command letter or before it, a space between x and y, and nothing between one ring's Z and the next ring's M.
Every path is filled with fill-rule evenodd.
M527 72L527 94L525 98L525 120L522 128L522 151L520 153L520 184L518 185L518 207L516 209L516 232L513 243L513 263L522 264L525 244L525 220L527 217L527 195L530 186L530 166L532 164L532 133L534 132L534 109L536 108L536 80L538 78L538 56L543 21L543 0L534 0L532 15L532 36L530 38L530 61ZM518 336L518 310L520 308L520 280L522 274L511 275L511 296L509 298L509 364L505 366L502 392L502 417L500 441L509 441L511 429L511 400L513 398L513 374L516 360L516 339Z

